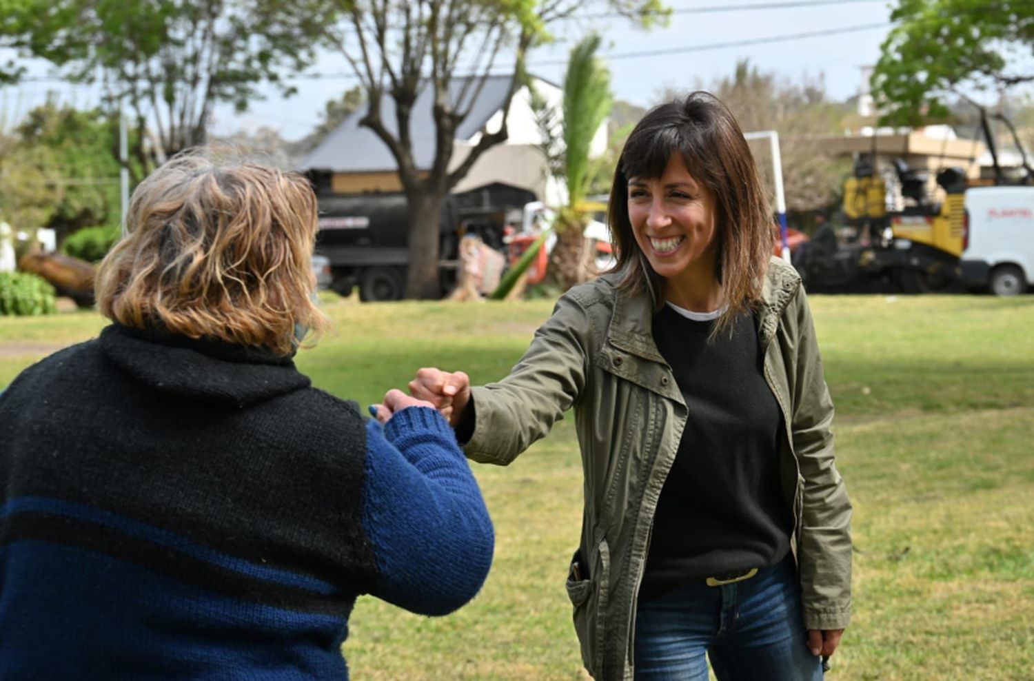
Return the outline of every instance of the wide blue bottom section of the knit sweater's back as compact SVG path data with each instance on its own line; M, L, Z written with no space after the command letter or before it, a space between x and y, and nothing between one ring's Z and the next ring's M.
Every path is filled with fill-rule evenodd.
M49 541L0 547L0 679L347 679L340 615L285 612Z

